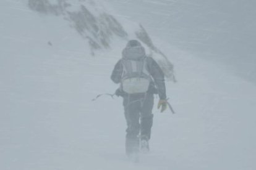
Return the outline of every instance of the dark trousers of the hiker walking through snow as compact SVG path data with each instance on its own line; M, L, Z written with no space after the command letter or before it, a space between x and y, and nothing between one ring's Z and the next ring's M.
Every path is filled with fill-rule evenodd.
M126 147L128 147L128 150L129 147L133 147L133 150L139 149L139 134L140 139L150 139L153 124L153 104L153 94L130 94L124 96L124 115L127 123Z

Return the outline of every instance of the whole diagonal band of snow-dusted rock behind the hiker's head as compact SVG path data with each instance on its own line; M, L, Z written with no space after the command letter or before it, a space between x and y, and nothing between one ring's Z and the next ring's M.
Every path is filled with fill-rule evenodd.
M151 41L147 30L138 23L126 20L126 29L111 14L111 7L103 4L104 1L70 1L59 0L29 0L30 9L43 15L61 17L87 41L91 55L99 49L109 49L114 38L122 40L137 38L145 44L148 55L151 55L160 64L168 79L176 81L173 63ZM113 12L112 12L113 13ZM128 26L129 25L129 26ZM51 41L48 41L51 45Z

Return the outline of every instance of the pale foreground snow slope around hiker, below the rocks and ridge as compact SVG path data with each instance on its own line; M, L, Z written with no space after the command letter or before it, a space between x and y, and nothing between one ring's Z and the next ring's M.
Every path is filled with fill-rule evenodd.
M166 86L177 114L154 108L151 152L131 164L122 100L92 102L115 91L109 75L126 41L92 57L65 20L23 1L0 7L0 169L256 168L251 84L154 38L176 66Z

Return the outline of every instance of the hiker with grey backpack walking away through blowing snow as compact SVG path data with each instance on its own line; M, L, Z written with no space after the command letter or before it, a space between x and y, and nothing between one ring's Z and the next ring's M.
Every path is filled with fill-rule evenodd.
M122 51L122 59L114 66L111 75L114 83L120 83L116 95L123 97L124 115L127 122L126 154L149 151L153 124L153 94L158 94L158 108L167 108L164 73L139 41L128 41Z

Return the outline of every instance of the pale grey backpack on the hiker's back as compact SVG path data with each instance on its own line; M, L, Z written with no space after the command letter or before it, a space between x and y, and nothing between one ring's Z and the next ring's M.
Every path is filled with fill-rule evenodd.
M152 81L147 67L147 57L141 60L122 59L121 89L128 94L145 93Z

